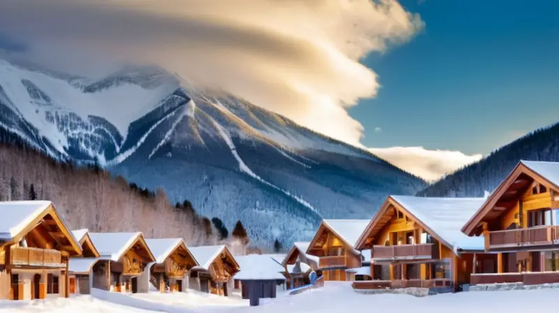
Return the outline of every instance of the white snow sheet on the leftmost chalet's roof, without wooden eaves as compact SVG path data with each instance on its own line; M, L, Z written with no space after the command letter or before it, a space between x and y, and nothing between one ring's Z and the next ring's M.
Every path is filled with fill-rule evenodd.
M50 201L0 202L0 239L14 238L50 205Z

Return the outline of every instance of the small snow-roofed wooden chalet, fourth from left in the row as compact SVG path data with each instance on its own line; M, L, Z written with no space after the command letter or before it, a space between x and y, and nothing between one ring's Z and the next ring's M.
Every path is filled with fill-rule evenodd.
M140 284L153 284L164 293L184 292L188 271L199 265L182 238L146 239L147 247L155 256L149 265L149 274ZM149 288L149 286L148 286Z

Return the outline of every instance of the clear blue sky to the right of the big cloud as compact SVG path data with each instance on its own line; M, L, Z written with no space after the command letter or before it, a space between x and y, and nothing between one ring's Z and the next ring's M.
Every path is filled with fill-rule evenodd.
M558 122L559 1L402 5L426 27L363 60L382 85L349 110L365 126L365 146L488 154Z

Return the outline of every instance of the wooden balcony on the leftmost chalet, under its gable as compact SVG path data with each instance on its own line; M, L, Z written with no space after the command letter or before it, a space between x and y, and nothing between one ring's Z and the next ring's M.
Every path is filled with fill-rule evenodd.
M13 265L36 266L41 268L64 268L62 253L58 250L29 247L11 247L10 262Z

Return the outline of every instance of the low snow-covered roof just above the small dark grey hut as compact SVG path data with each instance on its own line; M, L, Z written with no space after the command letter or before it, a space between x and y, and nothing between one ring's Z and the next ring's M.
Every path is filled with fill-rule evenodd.
M285 279L282 272L284 267L279 265L268 255L249 254L236 256L235 260L240 265L240 272L235 274L235 279Z

